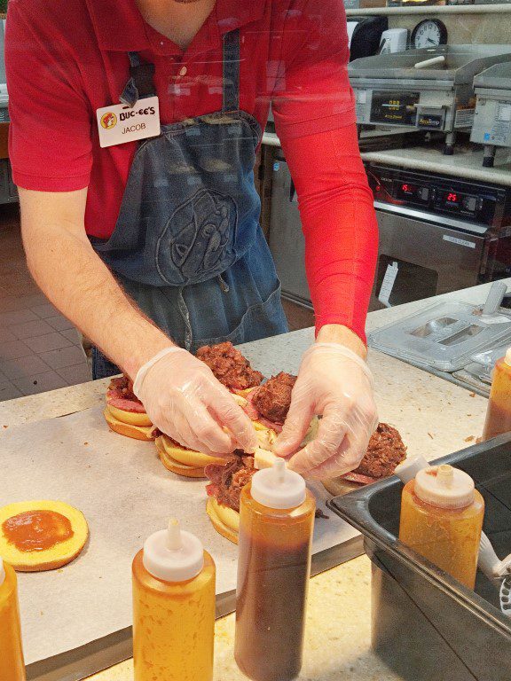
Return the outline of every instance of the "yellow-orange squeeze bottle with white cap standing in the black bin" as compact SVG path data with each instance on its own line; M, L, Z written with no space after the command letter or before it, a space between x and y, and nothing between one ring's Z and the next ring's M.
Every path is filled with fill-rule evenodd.
M431 466L405 484L399 539L474 589L483 516L484 499L468 474Z

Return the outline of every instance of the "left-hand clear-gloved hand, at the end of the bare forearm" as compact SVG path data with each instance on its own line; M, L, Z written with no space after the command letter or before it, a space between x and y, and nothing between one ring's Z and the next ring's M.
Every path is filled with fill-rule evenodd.
M183 348L165 348L140 367L133 392L154 426L184 447L215 456L255 451L248 416L208 365Z

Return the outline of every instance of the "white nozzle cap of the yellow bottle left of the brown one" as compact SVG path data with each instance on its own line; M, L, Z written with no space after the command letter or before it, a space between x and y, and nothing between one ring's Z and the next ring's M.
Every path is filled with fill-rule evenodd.
M175 518L169 528L148 536L142 559L145 569L164 582L185 582L199 575L204 567L204 549L200 540L179 528Z

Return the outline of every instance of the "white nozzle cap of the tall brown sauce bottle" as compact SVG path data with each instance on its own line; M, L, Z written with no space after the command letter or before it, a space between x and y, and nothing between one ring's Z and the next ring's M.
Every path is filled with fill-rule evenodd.
M252 476L250 493L263 506L295 508L305 501L305 481L302 475L287 469L283 458L277 457L271 468L263 468Z

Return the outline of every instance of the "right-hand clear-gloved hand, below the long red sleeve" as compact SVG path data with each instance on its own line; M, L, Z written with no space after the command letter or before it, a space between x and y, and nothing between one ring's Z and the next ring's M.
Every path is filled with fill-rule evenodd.
M299 448L312 417L318 434ZM338 343L315 343L303 355L291 406L274 451L311 478L332 478L356 468L378 425L373 377L366 362Z

